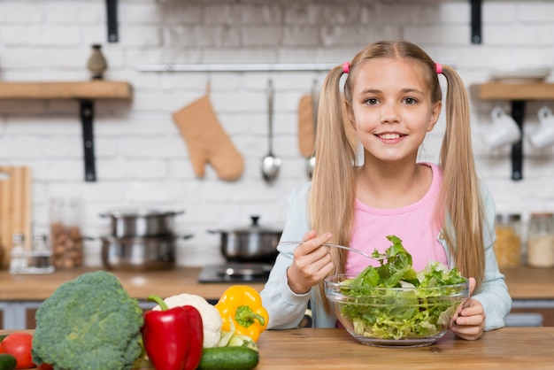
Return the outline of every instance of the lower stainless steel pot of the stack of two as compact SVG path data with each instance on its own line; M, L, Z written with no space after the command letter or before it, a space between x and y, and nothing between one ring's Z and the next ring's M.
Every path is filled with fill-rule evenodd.
M175 266L174 236L102 237L102 262L109 270L149 271Z

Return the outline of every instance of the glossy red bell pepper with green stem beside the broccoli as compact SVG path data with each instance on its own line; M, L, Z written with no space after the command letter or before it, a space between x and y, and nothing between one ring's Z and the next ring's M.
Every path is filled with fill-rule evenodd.
M144 351L157 370L195 370L202 358L204 327L202 317L193 306L173 307L158 296L161 311L144 314L142 341Z

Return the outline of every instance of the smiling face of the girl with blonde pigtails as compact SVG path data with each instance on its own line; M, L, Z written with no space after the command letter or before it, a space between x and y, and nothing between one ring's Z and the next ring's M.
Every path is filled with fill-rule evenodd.
M349 118L366 161L415 161L441 112L441 102L432 102L422 69L412 59L374 58L350 76Z

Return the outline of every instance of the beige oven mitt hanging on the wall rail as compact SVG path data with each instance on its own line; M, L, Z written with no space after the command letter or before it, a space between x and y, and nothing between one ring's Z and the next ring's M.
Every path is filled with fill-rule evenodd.
M174 112L173 121L189 147L196 177L204 177L207 163L213 166L221 180L235 181L241 177L244 158L219 124L210 96L202 96Z

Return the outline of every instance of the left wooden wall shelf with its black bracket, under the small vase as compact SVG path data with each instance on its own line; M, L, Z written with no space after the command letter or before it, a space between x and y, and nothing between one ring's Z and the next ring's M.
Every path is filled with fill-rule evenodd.
M131 85L125 81L0 82L0 99L76 99L80 103L85 181L96 181L94 151L94 101L130 99Z

